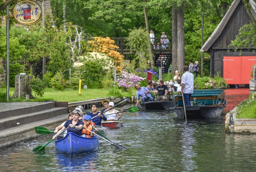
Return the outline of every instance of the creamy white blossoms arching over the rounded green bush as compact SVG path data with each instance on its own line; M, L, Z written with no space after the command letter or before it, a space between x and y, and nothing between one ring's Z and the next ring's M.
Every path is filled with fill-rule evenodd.
M108 57L106 54L99 53L99 52L89 52L84 56L80 56L79 62L74 63L73 67L79 68L84 66L84 64L90 63L90 62L99 63L102 66L102 68L106 71L110 71L115 67L113 59L111 57Z

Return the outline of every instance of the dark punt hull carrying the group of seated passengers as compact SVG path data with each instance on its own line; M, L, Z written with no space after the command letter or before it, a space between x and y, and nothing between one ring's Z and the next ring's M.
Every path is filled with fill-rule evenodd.
M146 110L167 110L175 107L175 101L148 101L140 103L142 109Z

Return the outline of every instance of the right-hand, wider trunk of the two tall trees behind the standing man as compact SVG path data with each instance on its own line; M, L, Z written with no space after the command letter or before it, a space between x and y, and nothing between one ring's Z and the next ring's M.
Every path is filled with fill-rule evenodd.
M185 65L185 33L184 33L184 4L177 10L177 67L179 70L183 69Z

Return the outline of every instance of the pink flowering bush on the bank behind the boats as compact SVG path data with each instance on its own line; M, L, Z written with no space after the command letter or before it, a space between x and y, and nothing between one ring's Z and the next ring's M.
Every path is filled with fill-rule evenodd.
M118 86L129 89L134 87L135 84L140 84L140 81L145 79L145 77L138 77L137 75L122 71L121 76L117 81Z

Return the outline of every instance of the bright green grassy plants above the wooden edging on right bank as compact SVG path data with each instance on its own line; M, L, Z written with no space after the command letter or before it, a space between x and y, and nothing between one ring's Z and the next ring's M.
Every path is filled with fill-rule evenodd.
M256 99L255 93L250 95L249 99L239 103L236 118L256 119Z

